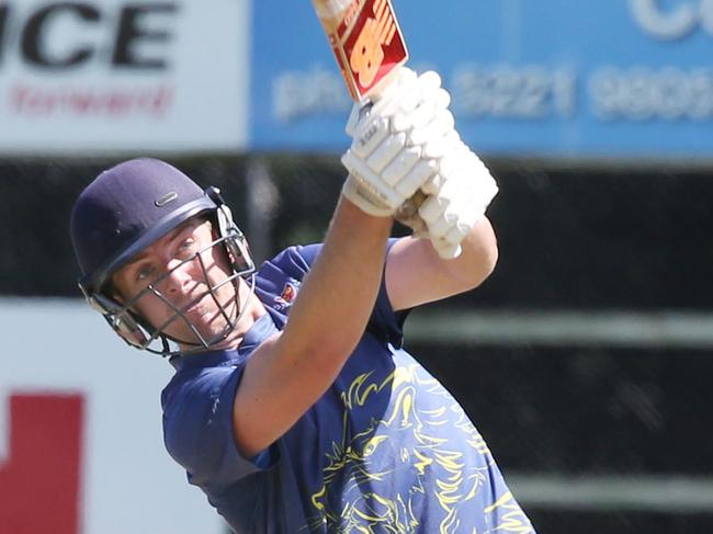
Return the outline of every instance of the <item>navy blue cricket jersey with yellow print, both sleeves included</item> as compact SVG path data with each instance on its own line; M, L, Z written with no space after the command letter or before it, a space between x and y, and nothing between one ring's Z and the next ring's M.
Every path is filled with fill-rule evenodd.
M400 348L406 313L392 309L383 282L329 390L270 447L240 455L233 402L246 362L284 326L319 247L260 268L268 314L237 350L172 360L165 442L189 481L238 533L534 533L461 406Z

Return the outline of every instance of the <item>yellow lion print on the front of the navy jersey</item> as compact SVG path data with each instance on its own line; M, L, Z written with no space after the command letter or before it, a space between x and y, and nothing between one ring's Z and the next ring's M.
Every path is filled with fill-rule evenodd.
M316 513L307 529L326 526L337 534L421 532L417 516L420 512L415 508L431 498L437 507L428 513L437 514L439 533L463 532L459 531L463 521L460 505L480 490L490 490L484 486L489 484L494 461L463 409L435 379L418 374L417 368L416 364L396 367L381 383L372 382L371 373L365 373L342 393L342 436L327 455L324 485L312 496ZM350 436L351 411L384 388L392 389L393 401L383 418L372 419L367 428ZM442 398L443 402L438 408L416 411L419 391ZM465 442L472 450L471 458L476 454L483 461L472 465L463 451L452 446L452 438L437 435L434 430L443 425L451 429L444 434L461 433L457 441L461 447ZM380 482L389 477L401 477L410 486L401 487L397 495L380 493ZM482 514L491 518L488 530L467 534L533 532L507 488L503 491L483 509Z

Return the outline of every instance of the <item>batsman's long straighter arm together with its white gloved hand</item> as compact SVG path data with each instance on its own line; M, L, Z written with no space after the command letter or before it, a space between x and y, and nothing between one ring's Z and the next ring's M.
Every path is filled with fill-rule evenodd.
M403 69L392 87L398 89L393 98L350 121L350 177L325 245L284 332L260 345L246 366L234 406L235 439L245 455L284 434L332 384L376 300L393 216L435 170L407 143L406 130L443 106L440 79Z

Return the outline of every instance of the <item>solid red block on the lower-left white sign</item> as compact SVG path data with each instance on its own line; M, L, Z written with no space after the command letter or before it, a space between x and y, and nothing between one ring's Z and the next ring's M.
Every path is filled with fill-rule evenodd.
M0 467L0 530L78 534L83 398L10 397L10 448Z

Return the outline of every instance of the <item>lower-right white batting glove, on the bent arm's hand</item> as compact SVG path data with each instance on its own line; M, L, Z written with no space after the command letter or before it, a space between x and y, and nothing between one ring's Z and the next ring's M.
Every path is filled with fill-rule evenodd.
M452 141L454 139L451 139ZM460 139L444 150L439 173L422 186L428 195L418 214L425 224L420 237L429 237L443 259L457 258L461 242L498 193L487 167Z

